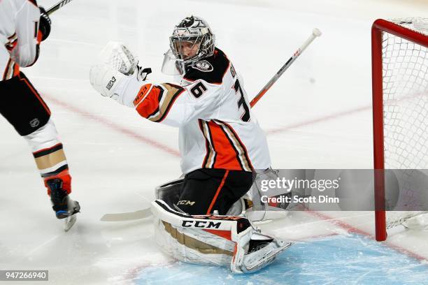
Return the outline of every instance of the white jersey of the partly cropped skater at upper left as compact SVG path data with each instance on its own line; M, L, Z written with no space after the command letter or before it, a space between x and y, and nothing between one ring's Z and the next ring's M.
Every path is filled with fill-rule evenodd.
M20 66L31 66L38 57L40 10L35 0L0 1L0 81L13 78Z

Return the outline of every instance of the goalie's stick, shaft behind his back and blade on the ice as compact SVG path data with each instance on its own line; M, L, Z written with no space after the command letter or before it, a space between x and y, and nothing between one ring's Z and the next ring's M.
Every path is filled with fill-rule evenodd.
M57 5L59 5L59 3ZM251 108L260 100L260 98L262 98L262 96L269 90L269 88L272 87L272 85L278 80L278 78L280 78L280 76L283 75L283 73L292 65L292 63L297 59L297 57L299 57L300 54L304 52L304 50L306 50L306 47L308 47L308 45L310 45L313 42L313 40L315 40L315 38L321 35L322 33L319 29L317 28L313 29L311 36L304 42L303 45L301 45L301 47L299 47L299 49L296 52L294 52L292 57L290 57L290 59L287 60L287 62L283 65L283 67L281 67L280 70L276 73L276 75L273 75L273 78L269 80L269 82L263 87L263 89L259 92L259 94L257 94L257 96L255 96L255 98L252 99L252 101L250 102ZM144 219L144 218L150 217L151 215L152 215L152 212L150 212L150 208L146 208L136 212L104 214L104 216L101 217L101 221L131 221L136 219Z

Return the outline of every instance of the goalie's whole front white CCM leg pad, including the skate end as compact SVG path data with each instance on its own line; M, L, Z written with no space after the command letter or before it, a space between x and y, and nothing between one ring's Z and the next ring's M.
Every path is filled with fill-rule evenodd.
M152 202L152 213L160 247L186 263L229 266L235 273L255 272L291 245L263 235L244 217L191 216L171 209L163 200Z

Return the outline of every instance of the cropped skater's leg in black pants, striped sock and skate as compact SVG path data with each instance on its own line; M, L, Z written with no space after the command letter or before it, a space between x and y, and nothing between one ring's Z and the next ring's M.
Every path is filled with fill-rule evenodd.
M29 143L57 217L63 219L78 212L78 203L68 198L71 176L48 105L24 73L1 82L0 87L5 94L1 115Z

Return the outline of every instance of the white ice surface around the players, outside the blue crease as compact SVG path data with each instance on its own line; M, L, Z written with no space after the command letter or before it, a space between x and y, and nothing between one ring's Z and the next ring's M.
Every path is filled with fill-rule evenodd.
M152 67L152 80L170 81L160 67L173 25L200 15L252 98L317 27L322 37L254 109L268 132L273 166L372 168L371 24L427 11L425 0L72 1L52 15L40 59L22 71L52 110L82 212L64 233L29 147L0 119L0 270L47 269L50 284L108 284L171 262L155 245L150 219L99 221L105 213L148 207L155 186L180 175L176 129L145 121L90 86L90 65L108 41L129 45ZM373 233L372 214L348 215L330 217ZM347 231L304 213L263 227L291 240ZM406 231L390 244L428 258L426 240L426 232Z

